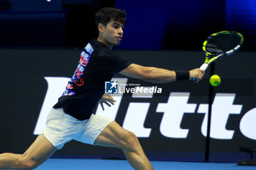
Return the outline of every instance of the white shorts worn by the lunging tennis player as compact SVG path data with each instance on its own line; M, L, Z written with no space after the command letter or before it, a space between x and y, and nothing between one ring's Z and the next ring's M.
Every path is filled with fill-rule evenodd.
M60 150L65 143L75 139L86 144L94 144L104 128L113 122L108 117L91 115L89 120L78 120L63 112L63 109L50 109L46 128L42 131L45 138Z

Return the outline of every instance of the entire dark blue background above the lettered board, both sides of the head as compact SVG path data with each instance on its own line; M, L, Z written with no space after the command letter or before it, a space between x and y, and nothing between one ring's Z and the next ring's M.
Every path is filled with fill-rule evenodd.
M118 49L201 50L210 34L233 30L244 35L241 50L255 50L254 0L0 0L0 5L1 47L83 47L97 38L94 13L116 7L127 11Z

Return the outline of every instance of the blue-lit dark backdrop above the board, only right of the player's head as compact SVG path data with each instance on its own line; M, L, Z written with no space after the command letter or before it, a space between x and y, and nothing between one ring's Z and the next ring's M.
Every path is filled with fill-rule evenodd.
M116 7L128 13L122 49L200 50L207 36L228 29L244 34L244 49L254 50L254 0L116 0Z

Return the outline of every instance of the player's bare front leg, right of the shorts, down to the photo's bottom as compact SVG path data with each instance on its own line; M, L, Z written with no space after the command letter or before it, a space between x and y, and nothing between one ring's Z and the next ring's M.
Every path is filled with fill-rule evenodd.
M134 169L153 169L140 146L137 136L125 130L116 122L110 123L97 137L94 144L120 148Z

